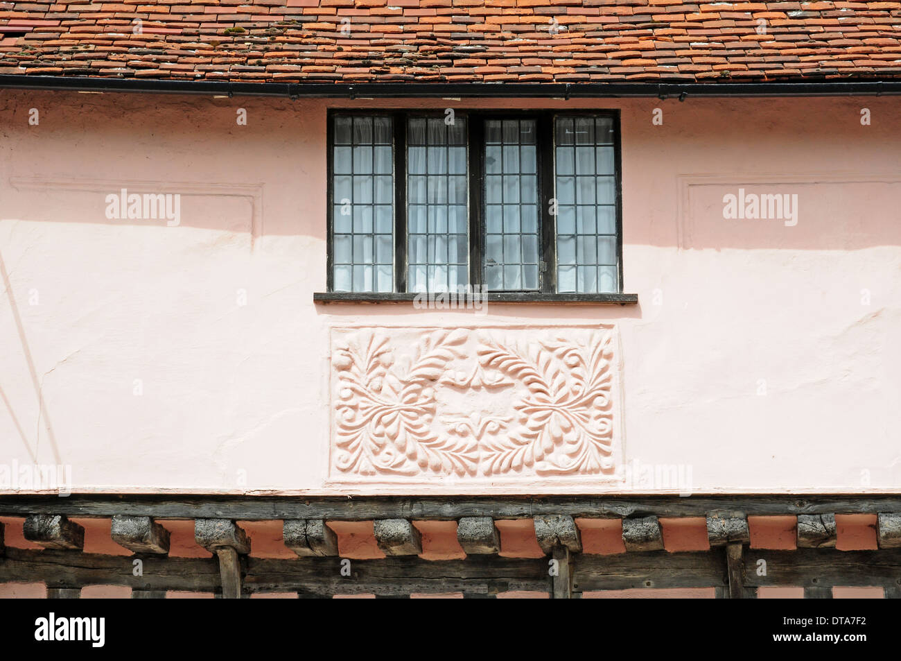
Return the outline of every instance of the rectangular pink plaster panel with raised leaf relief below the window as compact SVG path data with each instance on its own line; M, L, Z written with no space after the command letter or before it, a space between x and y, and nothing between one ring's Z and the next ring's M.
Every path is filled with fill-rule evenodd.
M614 328L335 328L332 476L603 476Z

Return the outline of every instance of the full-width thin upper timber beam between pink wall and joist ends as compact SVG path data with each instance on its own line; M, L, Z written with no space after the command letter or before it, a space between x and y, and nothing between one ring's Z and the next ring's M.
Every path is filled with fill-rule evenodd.
M531 519L567 514L573 518L721 517L777 514L877 514L901 512L901 496L183 496L72 494L0 496L0 516L62 514L112 517L114 514L156 519Z

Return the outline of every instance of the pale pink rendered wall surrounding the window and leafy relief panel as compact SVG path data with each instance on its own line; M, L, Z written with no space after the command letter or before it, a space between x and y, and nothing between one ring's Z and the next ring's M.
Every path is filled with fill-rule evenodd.
M624 289L639 305L314 305L329 104L542 103L622 111ZM896 491L896 99L542 103L5 92L0 464L65 464L73 491ZM107 220L120 188L179 193L180 224ZM797 224L725 220L739 188L797 194ZM348 325L398 344L462 327L467 351L485 327L526 346L609 337L612 466L336 472L330 357ZM511 405L461 398L482 416ZM682 482L661 479L672 471Z

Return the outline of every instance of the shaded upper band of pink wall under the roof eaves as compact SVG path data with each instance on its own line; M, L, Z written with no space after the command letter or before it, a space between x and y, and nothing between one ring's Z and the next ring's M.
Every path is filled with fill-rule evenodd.
M0 182L4 216L197 227L250 234L251 245L262 235L324 241L327 103L435 110L448 105L441 99L8 93L0 106L12 115ZM498 104L509 105L490 99L457 105ZM517 104L575 110L598 102ZM860 122L864 104L871 124ZM891 99L607 99L602 105L622 109L627 247L901 245L901 149L892 128L901 110ZM32 106L41 111L37 126L28 124ZM663 111L659 125L651 122L655 106ZM246 124L238 124L241 116ZM578 188L578 180L560 180L558 186L573 183ZM175 195L177 209L169 198ZM154 214L154 205L167 211Z

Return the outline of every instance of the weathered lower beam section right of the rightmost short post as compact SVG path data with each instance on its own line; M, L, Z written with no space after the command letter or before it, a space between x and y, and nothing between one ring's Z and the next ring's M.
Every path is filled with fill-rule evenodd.
M842 585L866 587L892 585L901 576L901 549L881 551L838 551L833 548L799 548L796 551L754 549L754 562L767 563L767 575L749 569L745 584L800 587Z

